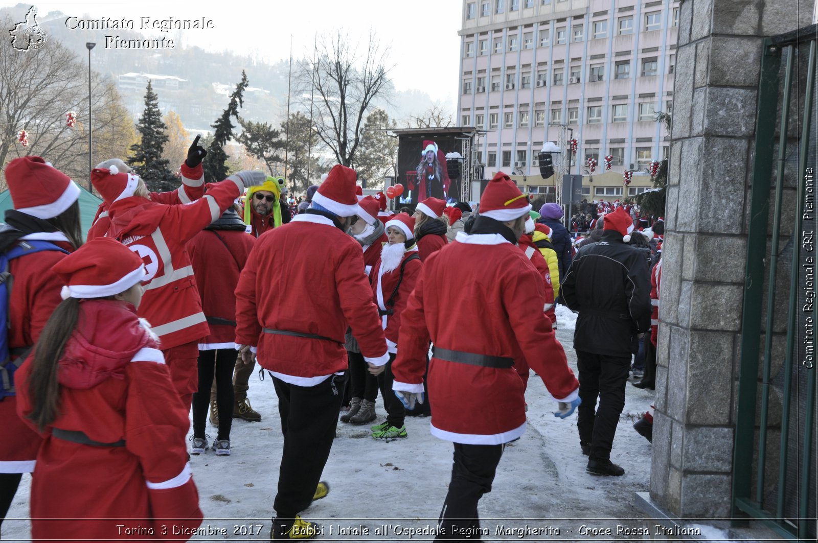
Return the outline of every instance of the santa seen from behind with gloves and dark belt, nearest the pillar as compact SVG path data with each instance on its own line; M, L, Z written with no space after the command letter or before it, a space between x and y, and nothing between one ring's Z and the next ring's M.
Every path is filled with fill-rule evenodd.
M525 431L524 385L514 369L519 357L561 402L555 415L571 415L580 402L577 379L542 312L542 276L516 245L530 210L510 177L497 173L470 234L424 261L401 316L393 389L407 407L423 400L431 339L430 429L454 442L438 540L479 533L477 505L491 491L503 445Z

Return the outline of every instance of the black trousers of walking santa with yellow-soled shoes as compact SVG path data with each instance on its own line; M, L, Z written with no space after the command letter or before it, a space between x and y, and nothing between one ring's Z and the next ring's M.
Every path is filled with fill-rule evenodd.
M273 529L283 534L295 515L307 509L330 457L346 375L332 375L312 387L272 378L278 396L284 447L273 501Z

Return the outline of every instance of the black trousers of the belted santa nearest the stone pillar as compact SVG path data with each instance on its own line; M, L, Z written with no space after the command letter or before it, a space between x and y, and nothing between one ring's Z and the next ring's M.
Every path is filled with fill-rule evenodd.
M434 541L479 541L477 504L492 491L503 445L455 443L452 481L443 502Z

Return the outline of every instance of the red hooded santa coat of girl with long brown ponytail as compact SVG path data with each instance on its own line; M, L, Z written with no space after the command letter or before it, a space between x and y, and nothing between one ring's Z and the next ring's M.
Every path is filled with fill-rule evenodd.
M80 303L78 328L59 362L59 414L44 432L31 485L35 540L117 540L124 535L116 524L151 523L156 536L170 538L178 537L172 535L174 525L200 525L185 444L190 422L157 347L130 303ZM32 360L16 374L21 417L33 409L28 394ZM66 441L53 429L124 444Z

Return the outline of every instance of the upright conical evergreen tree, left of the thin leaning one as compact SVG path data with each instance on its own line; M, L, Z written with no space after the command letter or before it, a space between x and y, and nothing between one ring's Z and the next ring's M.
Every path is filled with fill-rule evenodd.
M141 138L131 146L133 155L128 157L128 165L142 177L151 191L169 191L175 185L168 159L162 158L164 144L168 141L166 129L159 109L159 96L153 92L151 81L148 80L145 110L137 123L137 132Z

